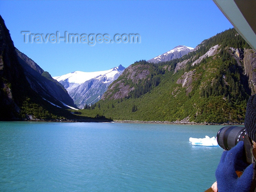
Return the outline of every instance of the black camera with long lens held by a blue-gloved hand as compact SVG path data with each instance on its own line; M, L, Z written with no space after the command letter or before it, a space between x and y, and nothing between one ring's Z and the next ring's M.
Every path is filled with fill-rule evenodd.
M232 147L236 146L239 141L244 142L244 162L251 164L252 143L249 136L246 134L245 127L226 126L222 127L217 133L217 142L224 150L230 150Z

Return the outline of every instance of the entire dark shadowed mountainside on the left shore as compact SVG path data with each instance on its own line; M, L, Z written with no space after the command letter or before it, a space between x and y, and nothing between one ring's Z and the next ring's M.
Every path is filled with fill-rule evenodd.
M69 116L69 112L53 106L67 108L53 93L60 91L62 97L65 93L69 104L74 102L64 88L58 89L51 80L49 73L15 49L0 16L0 121Z

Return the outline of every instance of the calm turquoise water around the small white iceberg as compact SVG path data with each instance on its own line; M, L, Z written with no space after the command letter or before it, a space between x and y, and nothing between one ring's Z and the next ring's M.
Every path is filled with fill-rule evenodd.
M222 126L0 122L0 191L205 191Z

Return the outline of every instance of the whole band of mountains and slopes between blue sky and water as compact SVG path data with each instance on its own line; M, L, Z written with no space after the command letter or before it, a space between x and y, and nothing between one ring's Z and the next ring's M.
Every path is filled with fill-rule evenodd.
M256 53L229 29L127 68L52 78L14 47L0 17L2 121L242 123L255 73Z

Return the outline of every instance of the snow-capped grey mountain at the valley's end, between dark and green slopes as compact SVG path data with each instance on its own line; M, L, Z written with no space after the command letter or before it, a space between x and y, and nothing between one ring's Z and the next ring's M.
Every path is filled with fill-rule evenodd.
M119 65L107 71L75 71L53 78L63 84L76 106L82 109L85 104L99 101L108 86L123 73L124 69Z

